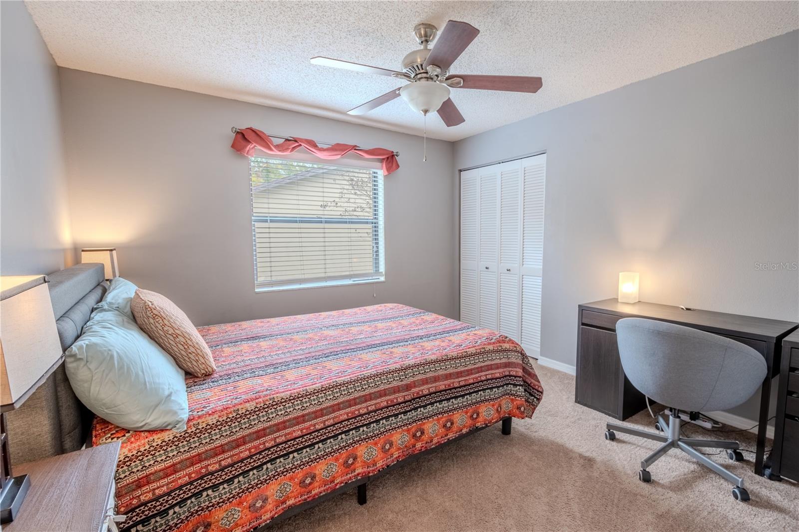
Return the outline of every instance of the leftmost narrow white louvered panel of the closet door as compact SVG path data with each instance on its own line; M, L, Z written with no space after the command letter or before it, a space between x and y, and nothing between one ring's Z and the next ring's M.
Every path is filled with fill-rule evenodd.
M479 326L477 169L460 174L460 320Z

